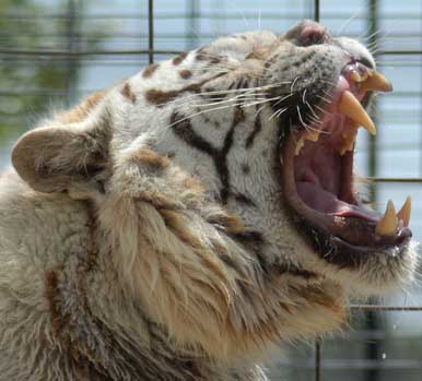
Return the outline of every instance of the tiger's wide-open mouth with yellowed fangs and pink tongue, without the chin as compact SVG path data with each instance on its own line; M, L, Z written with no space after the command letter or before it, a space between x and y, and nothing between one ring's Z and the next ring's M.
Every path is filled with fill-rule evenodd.
M319 251L341 248L399 254L412 235L410 198L398 213L389 201L385 214L379 215L362 205L353 189L357 129L376 133L362 106L372 91L388 92L391 85L361 62L348 64L328 106L284 142L281 159L285 201Z

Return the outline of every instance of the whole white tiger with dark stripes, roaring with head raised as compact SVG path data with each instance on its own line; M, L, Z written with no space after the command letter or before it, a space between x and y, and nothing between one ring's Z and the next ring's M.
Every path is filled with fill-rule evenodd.
M1 380L266 380L349 290L412 281L410 199L364 207L364 107L391 90L305 21L152 64L24 134L0 182Z

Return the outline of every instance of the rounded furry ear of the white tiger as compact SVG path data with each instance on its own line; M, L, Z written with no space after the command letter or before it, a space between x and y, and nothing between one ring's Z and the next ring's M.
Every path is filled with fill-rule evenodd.
M14 145L12 164L40 192L95 191L93 177L108 162L110 122L105 117L42 127L25 133Z

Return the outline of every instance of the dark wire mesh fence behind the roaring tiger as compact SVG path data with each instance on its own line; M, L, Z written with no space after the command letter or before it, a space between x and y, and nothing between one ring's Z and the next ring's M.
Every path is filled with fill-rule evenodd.
M378 202L385 205L383 201L390 197L402 201L403 189L415 195L412 223L418 237L422 230L422 204L418 202L422 186L422 8L419 1L409 1L407 5L388 0L353 4L302 0L295 5L289 1L261 1L258 9L253 2L228 0L119 0L113 7L107 1L93 4L93 1L83 0L27 0L15 5L13 1L4 0L0 5L0 27L3 26L0 33L0 138L4 141L0 159L3 166L9 163L14 138L51 105L73 104L79 97L106 87L144 64L202 45L215 37L215 29L220 35L263 26L281 32L304 17L341 29L348 21L354 24L347 34L376 49L374 55L378 64L397 79L394 83L398 84L397 91L388 95L389 98L380 97L373 109L374 119L383 124L386 133L359 136L357 166L364 168L363 175L374 182L371 195L376 205ZM129 11L121 13L128 4ZM46 21L48 25L40 27ZM383 39L379 31L385 29L392 29L394 38ZM406 70L405 78L402 70ZM402 133L390 133L397 129ZM391 135L392 139L388 138ZM420 326L414 333L420 343L411 344L420 352L412 358L384 358L379 345L388 336L383 319L389 319L380 318L380 314L422 312L422 299L418 296L413 305L409 300L400 305L397 300L350 306L361 321L349 343L362 344L361 357L327 358L326 349L332 354L335 344L318 340L312 350L305 349L305 359L278 360L277 367L307 369L306 380L310 377L324 381L339 379L324 372L325 369L360 372L359 377L352 372L351 378L342 373L344 381L384 381L388 379L385 370L402 371L400 374L410 374L407 380L420 380ZM418 317L422 321L422 315ZM410 322L414 325L415 319ZM279 376L274 377L278 379Z

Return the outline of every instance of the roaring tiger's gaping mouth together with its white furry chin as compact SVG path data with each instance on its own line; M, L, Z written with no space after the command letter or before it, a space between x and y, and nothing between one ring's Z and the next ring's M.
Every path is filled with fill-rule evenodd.
M417 265L410 197L398 212L388 201L380 215L360 200L353 181L357 129L376 134L365 111L374 91L388 92L391 85L379 72L350 62L323 112L292 129L279 155L293 225L325 267L328 262L339 270L323 270L326 276L364 295L411 282Z

